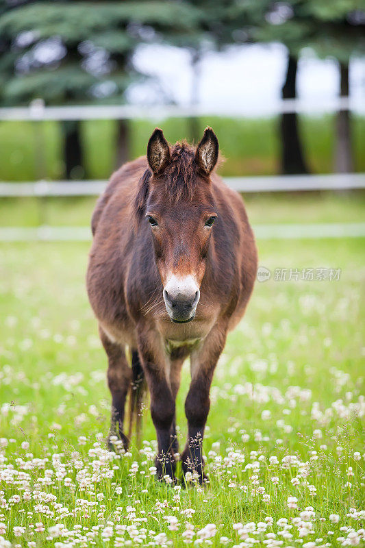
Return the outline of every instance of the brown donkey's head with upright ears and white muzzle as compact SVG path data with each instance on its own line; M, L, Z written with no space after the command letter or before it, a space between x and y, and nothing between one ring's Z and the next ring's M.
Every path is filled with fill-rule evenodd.
M185 142L169 147L161 129L147 146L150 169L136 205L151 227L164 302L175 323L192 321L197 310L217 218L210 181L217 159L218 140L210 127L197 149Z

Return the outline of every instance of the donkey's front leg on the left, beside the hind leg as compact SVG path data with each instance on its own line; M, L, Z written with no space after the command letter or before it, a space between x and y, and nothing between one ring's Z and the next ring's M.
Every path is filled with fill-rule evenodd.
M159 335L143 332L139 336L138 350L151 396L151 417L158 438L158 455L155 459L158 477L169 475L174 479L175 459L171 431L175 417L175 399L168 379L166 355Z

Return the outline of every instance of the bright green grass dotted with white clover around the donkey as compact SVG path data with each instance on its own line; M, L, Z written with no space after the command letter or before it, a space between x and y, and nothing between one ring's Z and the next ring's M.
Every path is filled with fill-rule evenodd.
M349 195L305 200L306 210L297 197L288 212L284 198L251 197L249 212L255 221L281 221L285 214L297 221L312 201L311 219L352 221L364 208ZM89 205L81 202L83 222ZM59 224L62 208L52 202L49 208ZM68 214L80 224L75 210ZM201 540L204 547L249 547L254 540L272 548L346 545L341 538L361 544L364 243L258 242L260 264L272 271L342 273L331 282L257 282L214 377L203 445L210 484L180 491L155 482L149 470L155 432L148 408L142 452L134 443L125 455L105 449L110 395L84 284L89 246L1 244L0 536L29 548L179 548L190 523L192 545L210 534L207 524L216 526ZM181 445L188 364L182 377ZM297 508L288 508L288 497L296 497ZM173 519L177 530L168 529ZM7 546L1 538L0 546Z

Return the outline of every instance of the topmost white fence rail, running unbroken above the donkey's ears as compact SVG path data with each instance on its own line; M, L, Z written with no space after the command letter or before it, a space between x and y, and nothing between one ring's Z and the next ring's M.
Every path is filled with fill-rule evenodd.
M361 97L331 97L329 99L281 99L275 103L225 105L209 108L203 105L68 105L45 106L36 99L27 107L0 108L0 120L42 121L42 120L130 120L194 117L194 116L265 116L267 114L298 114L312 112L338 112L339 110L365 111Z

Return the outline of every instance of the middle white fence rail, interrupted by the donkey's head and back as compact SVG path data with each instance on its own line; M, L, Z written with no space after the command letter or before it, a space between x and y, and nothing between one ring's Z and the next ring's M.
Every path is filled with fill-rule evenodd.
M365 188L365 173L329 175L273 175L266 177L224 177L239 192L290 192L299 190L346 190ZM97 196L105 190L101 181L38 181L0 183L0 197Z

